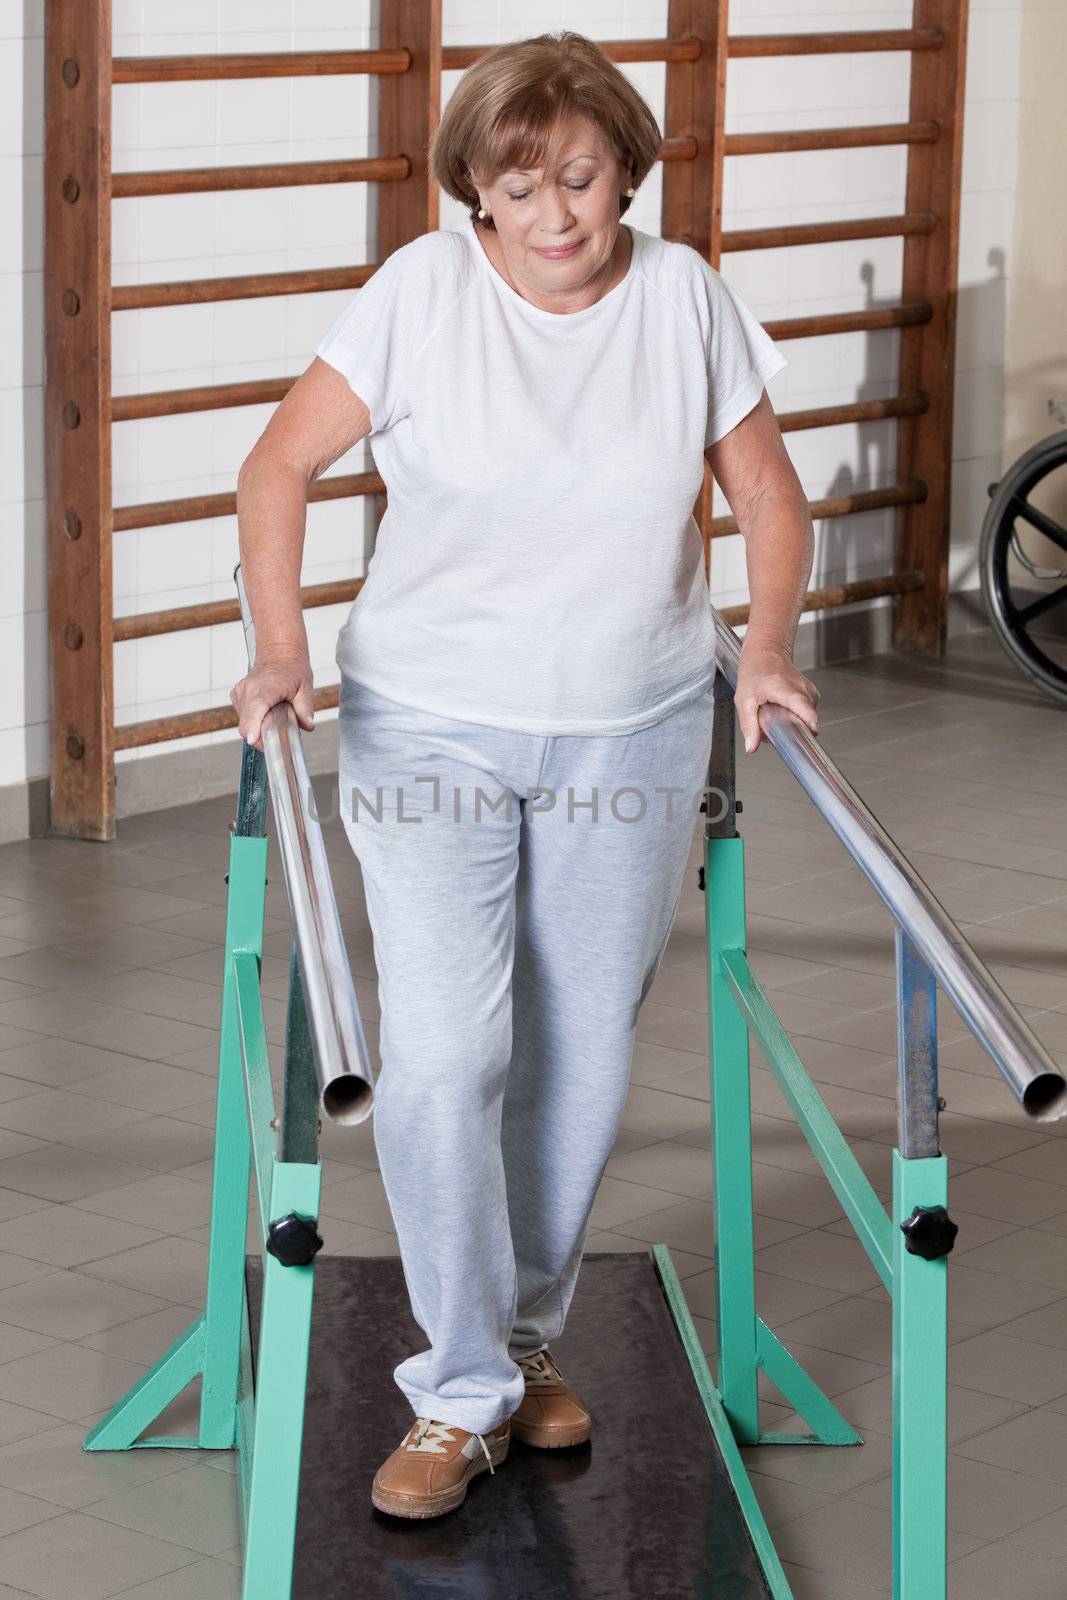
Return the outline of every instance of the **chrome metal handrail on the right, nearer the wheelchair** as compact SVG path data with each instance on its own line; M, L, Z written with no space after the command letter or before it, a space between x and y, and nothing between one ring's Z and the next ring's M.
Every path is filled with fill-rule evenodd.
M712 616L717 662L736 688L741 640L713 606ZM760 726L993 1058L1024 1110L1038 1122L1067 1115L1064 1074L811 730L784 706L761 706Z

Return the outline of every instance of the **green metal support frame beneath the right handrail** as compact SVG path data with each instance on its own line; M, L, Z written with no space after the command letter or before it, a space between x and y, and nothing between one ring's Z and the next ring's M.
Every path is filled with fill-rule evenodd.
M707 989L712 1099L718 1382L701 1349L665 1245L653 1245L678 1334L715 1432L773 1600L793 1600L745 1469L742 1445L861 1445L841 1416L755 1309L752 1102L749 1034L792 1107L893 1301L893 1595L945 1597L947 1258L907 1248L917 1206L947 1203L944 1155L905 1160L893 1152L893 1214L856 1162L805 1070L745 954L744 840L704 840ZM904 1048L904 1043L902 1043ZM760 1429L758 1373L808 1422L809 1434Z

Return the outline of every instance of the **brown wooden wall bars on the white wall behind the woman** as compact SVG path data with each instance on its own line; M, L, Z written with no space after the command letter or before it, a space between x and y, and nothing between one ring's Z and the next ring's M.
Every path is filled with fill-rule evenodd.
M235 598L112 619L110 538L205 517L232 517L234 493L112 507L110 422L179 416L224 406L277 403L291 376L110 395L110 314L264 296L357 290L410 238L438 226L438 194L427 170L440 117L442 72L462 70L490 46L442 48L442 0L382 0L378 50L264 54L110 54L112 0L46 0L46 418L50 646L53 670L53 829L110 838L115 830L114 752L232 728L232 706L114 726L112 643L235 622ZM955 256L966 0L913 0L910 29L840 34L728 34L728 0L670 0L667 38L601 43L619 64L665 64L662 218L678 238L720 266L723 253L833 240L904 238L904 288L896 306L817 312L766 323L776 341L901 330L896 395L779 413L782 432L897 419L897 482L811 501L813 520L896 507L896 571L813 589L805 610L894 597L897 642L944 643ZM728 59L856 51L909 51L907 122L725 134ZM110 85L366 74L378 96L378 147L333 162L110 173ZM726 157L787 150L907 147L901 216L787 224L723 232ZM112 197L243 190L322 182L373 182L374 259L352 266L248 274L189 282L110 285ZM712 517L712 478L694 507L710 560L715 539L737 533ZM312 501L363 496L386 502L376 472L317 480ZM307 608L347 603L363 579L312 584ZM725 608L731 622L747 606ZM338 690L315 691L317 707Z

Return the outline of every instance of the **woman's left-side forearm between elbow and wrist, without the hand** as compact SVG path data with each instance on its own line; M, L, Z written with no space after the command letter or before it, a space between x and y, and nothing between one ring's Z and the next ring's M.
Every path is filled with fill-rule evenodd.
M237 477L237 539L256 658L307 654L301 563L307 523L307 478L277 454L256 454Z

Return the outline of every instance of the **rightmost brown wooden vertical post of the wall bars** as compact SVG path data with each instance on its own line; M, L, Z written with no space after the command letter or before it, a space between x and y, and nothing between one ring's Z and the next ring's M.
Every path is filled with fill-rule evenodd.
M897 421L897 483L920 478L926 499L899 514L896 570L920 570L925 582L897 595L893 643L925 654L942 654L947 632L966 24L968 0L913 0L912 26L939 27L944 43L912 54L909 120L936 122L941 134L907 150L904 210L931 211L937 226L904 240L901 299L926 301L933 317L901 330L901 394L923 390L929 410Z

